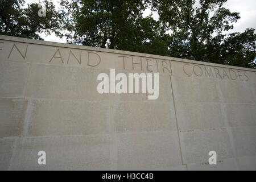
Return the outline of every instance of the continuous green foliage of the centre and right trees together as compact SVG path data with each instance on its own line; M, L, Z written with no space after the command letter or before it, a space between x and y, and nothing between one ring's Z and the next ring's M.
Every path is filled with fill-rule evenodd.
M225 2L200 0L196 7L195 0L63 0L63 5L72 12L66 21L74 32L68 35L71 43L254 68L254 30L225 35L240 18ZM158 11L159 20L143 18L147 7Z

